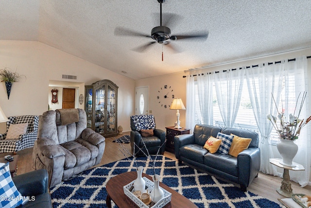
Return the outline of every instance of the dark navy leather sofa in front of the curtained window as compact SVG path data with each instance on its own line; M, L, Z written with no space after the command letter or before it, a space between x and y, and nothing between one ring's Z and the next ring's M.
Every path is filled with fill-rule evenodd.
M218 132L239 137L251 138L248 149L239 153L238 157L215 152L211 154L203 146L209 136L217 136ZM174 136L175 156L179 164L186 162L200 170L205 170L226 180L240 184L242 191L258 176L260 168L259 136L256 132L243 129L220 128L197 124L193 134Z

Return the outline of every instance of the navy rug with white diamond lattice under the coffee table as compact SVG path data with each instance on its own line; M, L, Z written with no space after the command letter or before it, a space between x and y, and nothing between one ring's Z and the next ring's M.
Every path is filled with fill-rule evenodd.
M146 157L139 157L137 162L138 166L145 167L143 172L154 174ZM53 208L106 208L106 183L122 172L136 171L135 167L133 161L123 159L86 170L51 189ZM243 192L207 173L185 165L179 166L177 161L162 155L157 157L155 167L155 173L161 176L162 183L190 199L199 208L284 208L249 191Z

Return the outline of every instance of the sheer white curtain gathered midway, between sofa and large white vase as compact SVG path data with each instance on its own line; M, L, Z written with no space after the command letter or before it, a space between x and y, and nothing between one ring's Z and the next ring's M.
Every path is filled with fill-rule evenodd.
M276 167L269 162L269 158L274 157L269 142L273 126L267 119L267 115L276 115L276 105L278 105L282 90L283 71L284 61L280 64L271 65L262 63L256 68L245 71L249 97L260 132L260 170L263 173L273 175L277 175Z

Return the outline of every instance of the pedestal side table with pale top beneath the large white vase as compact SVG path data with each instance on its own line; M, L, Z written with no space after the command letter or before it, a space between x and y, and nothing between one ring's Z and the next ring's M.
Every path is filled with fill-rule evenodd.
M284 169L282 185L280 188L277 188L276 191L285 197L292 198L293 189L292 189L289 170L298 171L298 170L305 170L305 168L302 165L295 163L295 162L293 162L293 164L296 165L296 167L285 166L285 165L280 164L279 163L280 161L282 161L282 159L280 158L270 158L271 164Z

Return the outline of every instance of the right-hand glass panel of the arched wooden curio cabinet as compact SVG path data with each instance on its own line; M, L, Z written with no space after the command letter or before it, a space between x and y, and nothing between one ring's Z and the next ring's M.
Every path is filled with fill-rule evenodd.
M107 97L107 132L116 131L116 91L108 85Z

